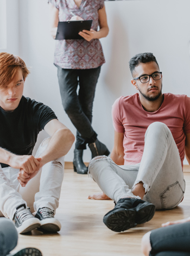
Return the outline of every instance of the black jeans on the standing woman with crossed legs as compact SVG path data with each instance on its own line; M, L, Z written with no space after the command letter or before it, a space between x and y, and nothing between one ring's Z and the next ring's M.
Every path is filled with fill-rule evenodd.
M91 123L101 66L95 69L62 69L60 66L57 68L62 105L77 129L75 148L86 149L86 144L96 141L97 138Z

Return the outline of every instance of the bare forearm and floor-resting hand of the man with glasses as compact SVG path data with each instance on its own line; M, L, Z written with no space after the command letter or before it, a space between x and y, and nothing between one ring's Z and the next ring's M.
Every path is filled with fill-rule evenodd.
M115 131L114 135L114 145L113 150L111 153L111 159L118 165L124 164L124 148L123 148L123 138L124 133L119 133ZM104 192L100 192L97 194L92 194L88 196L88 199L95 199L95 200L109 200L110 198L104 194Z

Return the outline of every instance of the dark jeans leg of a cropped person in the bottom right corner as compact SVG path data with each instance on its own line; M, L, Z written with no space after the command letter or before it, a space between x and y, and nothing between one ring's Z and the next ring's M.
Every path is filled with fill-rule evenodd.
M150 256L189 256L190 222L151 231L150 243Z

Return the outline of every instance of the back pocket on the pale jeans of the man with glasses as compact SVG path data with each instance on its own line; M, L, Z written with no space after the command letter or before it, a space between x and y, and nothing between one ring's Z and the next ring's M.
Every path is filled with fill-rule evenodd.
M160 194L162 209L167 210L177 206L181 202L184 193L185 191L183 191L179 181L169 185L166 190Z

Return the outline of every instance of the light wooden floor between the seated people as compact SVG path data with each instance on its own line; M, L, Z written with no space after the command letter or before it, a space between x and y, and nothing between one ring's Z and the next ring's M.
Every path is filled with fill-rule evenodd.
M190 173L185 173L186 193L183 202L169 211L156 211L154 218L136 228L115 233L103 223L103 216L114 206L112 200L89 200L88 194L99 192L97 184L71 169L65 170L60 206L56 218L62 224L56 234L32 231L19 235L17 249L37 247L43 256L142 256L140 243L148 231L159 228L168 220L174 221L189 216Z

